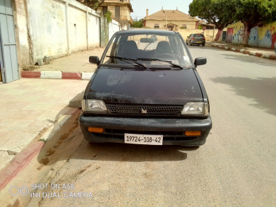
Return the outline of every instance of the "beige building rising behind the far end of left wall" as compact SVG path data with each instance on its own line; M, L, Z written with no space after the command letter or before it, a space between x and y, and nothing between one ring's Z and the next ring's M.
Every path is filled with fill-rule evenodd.
M111 18L115 19L121 24L121 29L126 30L133 24L133 20L130 17L130 13L133 12L130 0L106 0L101 3L98 10L101 10L101 14L106 14L110 11L112 13Z

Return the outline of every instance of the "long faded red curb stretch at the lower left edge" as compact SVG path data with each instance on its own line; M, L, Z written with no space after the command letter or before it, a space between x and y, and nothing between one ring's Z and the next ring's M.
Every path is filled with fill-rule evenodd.
M43 141L34 141L32 144L30 144L27 148L25 148L22 152L20 152L18 155L10 161L10 164L6 166L6 168L3 168L0 172L0 190L3 190L7 186L7 184L17 176L23 168L25 168L32 158L37 155L37 153L41 150L43 147L44 142Z

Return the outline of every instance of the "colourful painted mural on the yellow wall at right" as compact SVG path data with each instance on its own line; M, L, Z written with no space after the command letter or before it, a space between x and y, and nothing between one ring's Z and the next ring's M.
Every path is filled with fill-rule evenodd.
M232 42L242 43L242 34L244 33L243 23L237 22L228 26L228 28L233 28ZM248 45L262 48L276 48L276 22L252 28L250 30Z

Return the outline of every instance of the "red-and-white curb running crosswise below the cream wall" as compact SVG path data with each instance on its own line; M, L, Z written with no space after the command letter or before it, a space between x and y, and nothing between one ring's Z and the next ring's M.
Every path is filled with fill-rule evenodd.
M90 80L94 72L61 72L61 71L21 71L21 78L27 79L73 79Z

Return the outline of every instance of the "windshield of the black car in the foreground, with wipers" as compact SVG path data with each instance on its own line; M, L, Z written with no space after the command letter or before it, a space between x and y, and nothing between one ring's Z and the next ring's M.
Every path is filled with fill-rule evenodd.
M161 65L192 66L179 34L116 34L103 54L101 63L115 66L138 63L151 68Z

